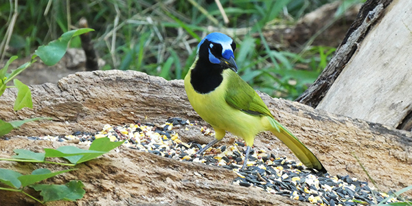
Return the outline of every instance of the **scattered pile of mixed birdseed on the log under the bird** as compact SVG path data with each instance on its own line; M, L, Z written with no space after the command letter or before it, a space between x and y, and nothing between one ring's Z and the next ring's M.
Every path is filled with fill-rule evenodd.
M358 181L350 176L330 176L316 174L307 170L300 162L286 157L276 157L266 150L253 148L247 169L240 171L244 160L244 143L237 140L231 146L209 148L203 156L196 152L205 145L195 142L185 143L173 128L197 125L181 118L170 118L165 124L155 126L150 123L129 124L124 126L105 125L98 133L75 132L72 135L57 137L28 137L34 140L73 141L79 144L91 144L94 139L109 138L111 141L125 140L124 146L150 152L177 161L193 161L216 165L233 170L238 177L233 184L243 187L256 187L260 190L287 196L298 201L315 205L373 205L389 197L383 192L376 192L367 182ZM185 127L185 130L189 130ZM201 127L203 135L213 136L208 128ZM391 198L386 203L404 201Z

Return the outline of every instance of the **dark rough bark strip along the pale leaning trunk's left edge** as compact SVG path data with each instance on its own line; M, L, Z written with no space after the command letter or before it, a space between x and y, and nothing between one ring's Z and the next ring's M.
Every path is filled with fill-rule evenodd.
M358 13L358 17L347 31L345 39L322 71L316 81L304 92L297 102L316 107L328 92L336 78L350 61L359 43L368 34L371 27L382 17L382 14L392 0L368 0Z

